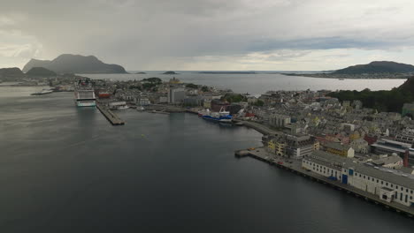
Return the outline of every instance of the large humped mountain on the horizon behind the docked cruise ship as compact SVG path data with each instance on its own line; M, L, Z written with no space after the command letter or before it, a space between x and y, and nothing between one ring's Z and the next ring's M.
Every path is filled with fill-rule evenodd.
M52 61L31 59L23 68L24 72L34 67L43 67L57 73L126 73L118 64L104 64L96 56L63 54Z

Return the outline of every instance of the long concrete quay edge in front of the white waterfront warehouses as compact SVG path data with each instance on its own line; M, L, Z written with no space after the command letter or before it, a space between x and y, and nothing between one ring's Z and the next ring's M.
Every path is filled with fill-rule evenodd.
M413 207L406 207L398 203L388 203L387 201L380 199L379 197L377 197L376 195L373 195L372 193L364 192L348 184L342 184L338 181L333 181L333 180L328 179L327 177L323 177L311 171L307 171L306 169L303 169L302 161L292 160L286 157L281 157L275 154L271 154L266 151L265 147L237 150L234 152L234 156L238 158L249 156L251 158L254 158L254 159L257 159L263 162L267 162L280 169L286 169L299 176L310 178L311 180L316 181L320 184L326 184L330 187L333 187L334 189L338 191L347 192L348 194L353 195L357 198L362 198L372 204L387 208L389 210L394 210L397 213L405 214L411 219L414 219L413 217L414 208Z

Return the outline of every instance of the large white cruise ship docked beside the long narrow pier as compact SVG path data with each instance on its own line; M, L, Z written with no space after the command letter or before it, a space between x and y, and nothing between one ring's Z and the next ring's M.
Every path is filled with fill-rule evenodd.
M96 106L94 87L89 79L79 79L74 84L75 103L78 107Z

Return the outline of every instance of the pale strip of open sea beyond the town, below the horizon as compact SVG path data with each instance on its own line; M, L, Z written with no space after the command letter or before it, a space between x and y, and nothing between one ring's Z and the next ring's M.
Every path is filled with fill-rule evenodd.
M131 71L135 72L135 71ZM230 88L236 93L264 94L269 90L390 90L403 84L405 79L318 79L286 76L274 71L255 74L205 74L198 71L177 71L177 75L165 75L164 71L146 71L147 74L82 74L91 79L130 80L158 77L168 80L173 77L183 82L199 85Z

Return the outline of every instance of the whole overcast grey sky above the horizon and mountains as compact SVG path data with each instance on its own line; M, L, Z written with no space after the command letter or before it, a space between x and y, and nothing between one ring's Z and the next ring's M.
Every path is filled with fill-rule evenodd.
M2 0L0 67L95 55L126 70L414 64L412 0Z

